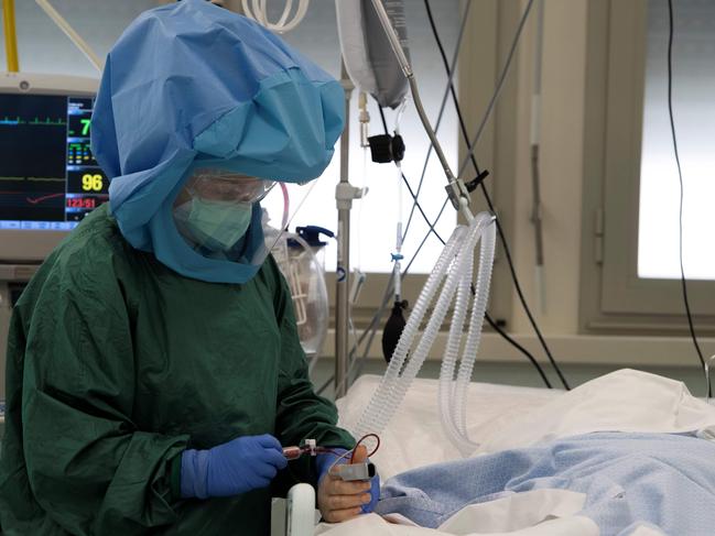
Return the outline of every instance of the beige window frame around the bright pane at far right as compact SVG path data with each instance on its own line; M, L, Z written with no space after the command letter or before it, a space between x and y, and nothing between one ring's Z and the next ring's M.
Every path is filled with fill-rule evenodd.
M687 331L680 280L638 277L647 9L648 0L588 4L581 271L585 332ZM687 288L698 335L715 333L715 315L707 313L715 285L689 281Z

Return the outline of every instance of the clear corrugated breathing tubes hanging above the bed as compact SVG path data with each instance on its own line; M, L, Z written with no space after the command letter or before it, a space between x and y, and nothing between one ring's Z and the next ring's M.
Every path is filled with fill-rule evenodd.
M486 240L483 238L486 238ZM448 376L441 380L440 384L440 400L442 401L442 397L444 396L446 406L444 406L442 402L440 405L452 408L452 411L448 412L449 418L447 419L449 425L445 425L445 431L447 428L451 430L447 431L449 439L453 442L456 441L455 446L457 446L457 448L459 448L458 445L464 442L466 425L461 427L455 424L456 419L464 414L464 409L457 412L454 406L457 403L466 404L466 386L464 390L459 389L459 379L466 376L467 373L469 373L469 375L472 374L474 360L476 359L476 349L481 335L484 309L486 308L489 297L489 283L491 280L491 267L494 265L494 216L489 212L478 214L468 227L458 226L454 230L452 237L449 237L449 240L442 250L426 284L420 293L420 297L418 298L410 318L408 319L407 326L402 331L402 336L400 337L394 353L392 354L387 372L382 376L377 391L372 395L372 398L357 423L356 429L354 430L356 436L359 437L368 433L379 434L390 422L394 412L404 400L407 391L422 368L424 360L434 344L434 341L440 333L442 322L455 300L456 295L457 299L453 314L453 325L449 330L447 352L445 353L445 362L448 358L452 365L443 363L442 375L446 373ZM484 304L484 308L481 309L481 313L476 310L478 307L475 307L473 310L465 354L466 350L472 348L474 349L474 355L470 357L470 363L463 363L461 365L458 382L456 385L457 389L455 390L452 385L454 382L455 361L461 347L462 328L466 319L469 295L472 294L474 250L480 239L483 239L481 260L479 263L479 278L477 281L474 303L475 305ZM438 293L438 297L436 297L440 288L441 292ZM422 325L430 306L432 306L435 300L435 297L436 305L434 306L432 316L430 317L415 347L415 339L418 338L420 326ZM469 378L466 378L466 381L468 382ZM462 449L459 450L462 451Z

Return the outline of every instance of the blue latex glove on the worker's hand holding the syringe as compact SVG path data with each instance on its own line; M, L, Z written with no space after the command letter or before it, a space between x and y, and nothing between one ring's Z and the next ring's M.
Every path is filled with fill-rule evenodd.
M267 488L288 460L273 436L246 436L182 453L182 497L231 496Z

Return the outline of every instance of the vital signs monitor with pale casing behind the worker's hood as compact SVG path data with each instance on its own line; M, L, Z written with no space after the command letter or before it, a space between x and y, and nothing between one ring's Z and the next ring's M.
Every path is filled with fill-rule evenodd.
M109 182L89 146L97 85L93 78L0 74L0 263L6 269L42 261L108 199Z

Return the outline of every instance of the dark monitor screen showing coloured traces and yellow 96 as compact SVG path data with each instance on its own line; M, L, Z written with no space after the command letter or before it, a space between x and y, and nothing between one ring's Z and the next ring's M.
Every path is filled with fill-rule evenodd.
M109 199L89 147L93 105L0 94L0 230L68 231Z

